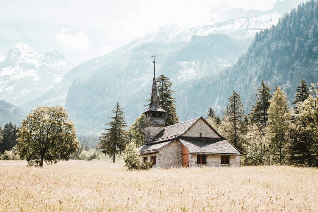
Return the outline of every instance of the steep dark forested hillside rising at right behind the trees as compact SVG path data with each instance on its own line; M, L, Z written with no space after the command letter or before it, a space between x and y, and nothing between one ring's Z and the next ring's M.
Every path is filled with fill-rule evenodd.
M184 120L190 118L188 114L194 108L201 113L209 104L225 108L233 90L241 95L248 112L262 79L273 88L280 85L287 92L288 100L294 100L296 85L302 78L308 84L318 81L318 2L315 0L300 4L280 18L276 26L256 33L247 53L218 77L196 79L176 87L176 93L182 93L183 97L177 99L177 108L188 105L181 114L178 112Z

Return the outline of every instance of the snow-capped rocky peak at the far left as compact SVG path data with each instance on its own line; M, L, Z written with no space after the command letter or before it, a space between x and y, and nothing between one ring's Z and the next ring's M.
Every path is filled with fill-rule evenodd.
M39 53L18 43L0 54L0 98L22 105L43 95L72 67L57 51Z

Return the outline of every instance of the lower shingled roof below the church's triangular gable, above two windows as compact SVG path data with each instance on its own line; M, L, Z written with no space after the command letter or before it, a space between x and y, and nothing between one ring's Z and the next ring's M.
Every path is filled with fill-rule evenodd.
M243 154L224 138L179 137L178 140L192 154Z

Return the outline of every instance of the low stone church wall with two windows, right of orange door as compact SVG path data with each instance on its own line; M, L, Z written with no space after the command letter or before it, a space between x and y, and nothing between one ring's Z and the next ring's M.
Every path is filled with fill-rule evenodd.
M231 166L239 167L241 164L241 156L230 155L230 164L221 164L221 155L219 154L206 154L206 165L197 164L197 154L189 154L189 167L197 166Z

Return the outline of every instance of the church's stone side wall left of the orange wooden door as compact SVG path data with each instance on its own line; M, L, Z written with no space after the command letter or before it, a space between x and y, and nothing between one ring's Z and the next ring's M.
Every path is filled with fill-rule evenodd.
M141 155L141 162L142 157L148 157L148 160L150 161L152 155L156 155L156 165L153 165L154 168L167 168L182 165L182 149L181 143L178 140L169 143L167 146L160 149L158 153Z

